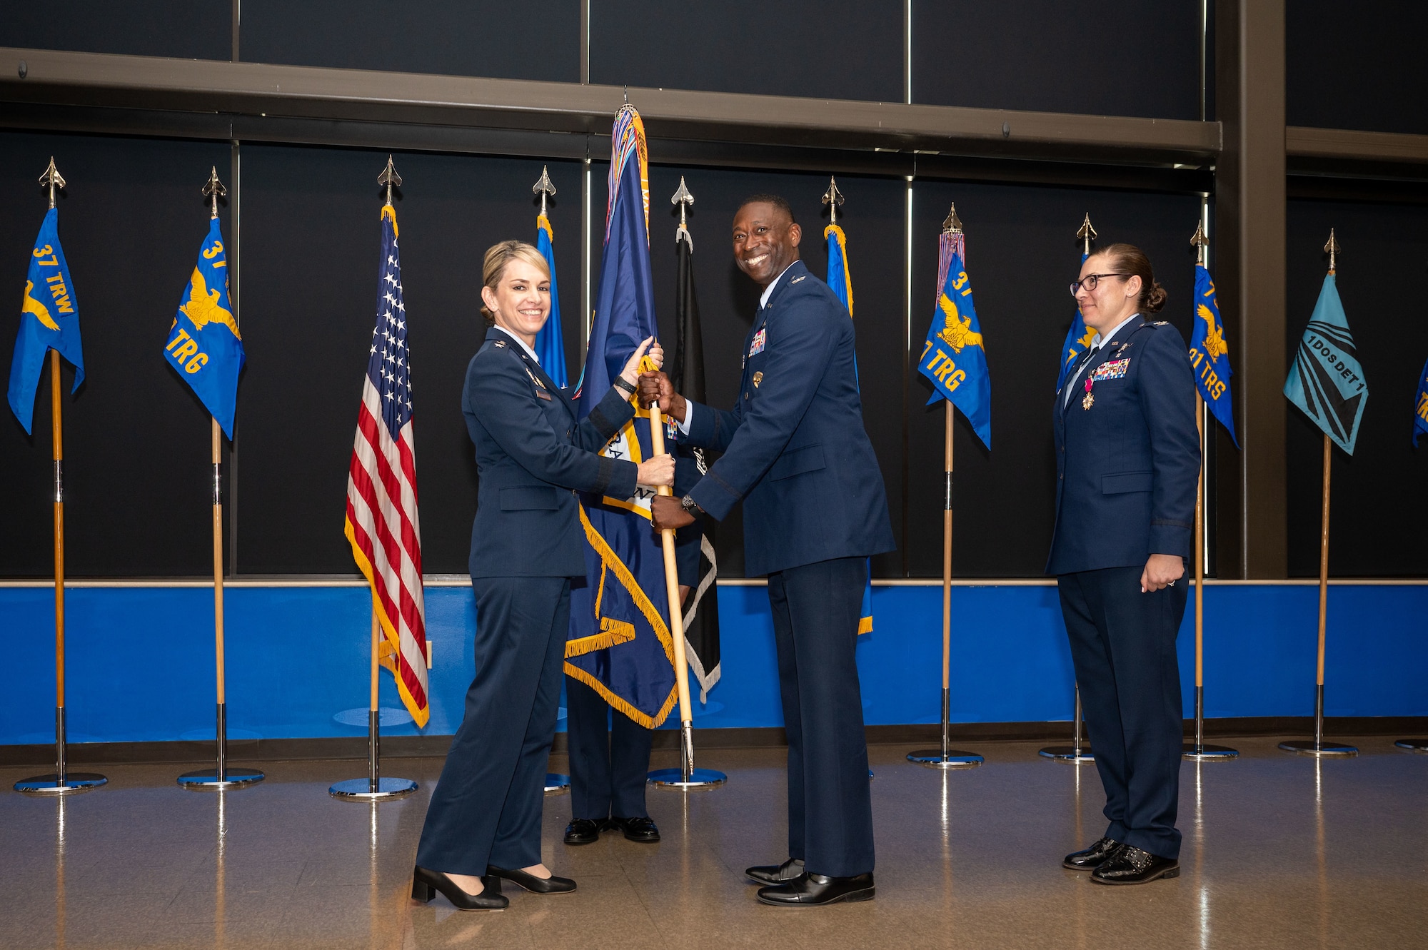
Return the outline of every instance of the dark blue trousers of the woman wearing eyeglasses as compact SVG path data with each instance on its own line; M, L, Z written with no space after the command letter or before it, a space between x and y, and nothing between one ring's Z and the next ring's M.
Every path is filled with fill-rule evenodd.
M1105 836L1180 857L1175 812L1184 709L1175 635L1187 581L1141 593L1144 568L1057 578L1095 769L1105 786Z

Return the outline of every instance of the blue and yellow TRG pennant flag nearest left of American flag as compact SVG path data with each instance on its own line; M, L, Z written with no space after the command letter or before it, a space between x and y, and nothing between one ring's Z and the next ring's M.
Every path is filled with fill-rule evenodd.
M208 221L208 237L198 248L198 262L169 328L164 358L231 439L238 372L243 369L243 337L228 302L228 258L218 218Z

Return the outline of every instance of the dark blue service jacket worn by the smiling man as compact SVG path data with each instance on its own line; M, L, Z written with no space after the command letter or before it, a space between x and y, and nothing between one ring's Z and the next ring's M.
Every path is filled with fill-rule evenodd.
M693 445L724 454L688 495L720 521L744 501L748 576L897 546L863 428L853 318L803 261L754 318L734 408L691 402L688 427Z

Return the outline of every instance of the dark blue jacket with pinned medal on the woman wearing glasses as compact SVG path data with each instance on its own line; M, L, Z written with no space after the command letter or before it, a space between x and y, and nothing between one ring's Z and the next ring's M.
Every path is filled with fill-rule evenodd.
M1152 553L1190 558L1200 434L1180 332L1135 315L1067 385L1071 398L1058 389L1052 408L1057 523L1047 573L1144 566Z

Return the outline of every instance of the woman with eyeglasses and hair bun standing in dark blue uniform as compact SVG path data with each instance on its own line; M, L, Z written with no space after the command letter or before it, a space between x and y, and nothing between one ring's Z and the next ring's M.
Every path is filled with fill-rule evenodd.
M1057 526L1047 573L1061 613L1105 833L1064 867L1098 884L1180 874L1181 698L1175 635L1185 613L1200 435L1185 341L1145 254L1112 244L1071 284L1091 345L1057 392Z

